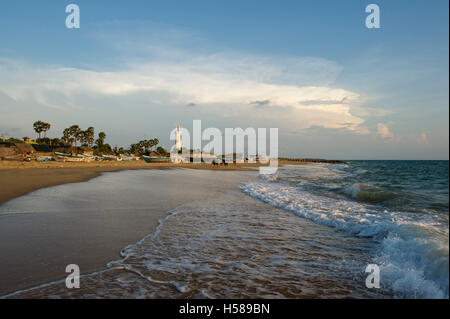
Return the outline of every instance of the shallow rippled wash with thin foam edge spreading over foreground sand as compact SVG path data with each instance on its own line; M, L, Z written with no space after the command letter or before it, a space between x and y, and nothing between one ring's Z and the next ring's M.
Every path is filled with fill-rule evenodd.
M233 190L169 211L79 289L57 281L4 298L388 297L364 286L366 245Z

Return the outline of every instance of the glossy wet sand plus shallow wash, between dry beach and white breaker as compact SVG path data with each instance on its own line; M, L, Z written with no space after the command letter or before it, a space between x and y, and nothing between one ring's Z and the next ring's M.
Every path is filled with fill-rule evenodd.
M258 181L245 170L123 170L12 199L0 206L0 296L367 297L353 275L324 272L368 243L240 190ZM69 264L80 289L65 287Z

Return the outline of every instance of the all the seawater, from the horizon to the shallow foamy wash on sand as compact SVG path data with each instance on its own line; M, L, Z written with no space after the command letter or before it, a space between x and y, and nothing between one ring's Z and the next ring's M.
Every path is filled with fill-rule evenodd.
M348 161L230 172L251 178L168 211L120 259L83 275L80 289L62 280L6 297L449 298L448 169ZM152 172L111 174L131 185ZM378 288L367 286L369 265Z

